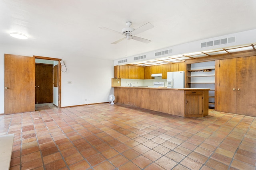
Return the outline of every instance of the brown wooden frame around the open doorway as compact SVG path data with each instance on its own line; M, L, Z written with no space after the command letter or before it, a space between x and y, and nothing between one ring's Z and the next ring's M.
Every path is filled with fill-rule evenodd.
M33 57L35 57L35 59L58 61L58 108L61 108L61 64L60 64L60 61L62 59L35 56L35 55L33 55Z

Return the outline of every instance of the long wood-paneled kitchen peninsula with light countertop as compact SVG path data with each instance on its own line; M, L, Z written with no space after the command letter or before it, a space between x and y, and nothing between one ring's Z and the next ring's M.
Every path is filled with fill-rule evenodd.
M205 88L114 87L115 102L182 117L208 115Z

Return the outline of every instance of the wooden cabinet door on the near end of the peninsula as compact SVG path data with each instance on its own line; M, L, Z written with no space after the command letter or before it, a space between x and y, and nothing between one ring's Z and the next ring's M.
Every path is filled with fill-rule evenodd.
M197 93L197 92L191 92ZM185 117L203 117L203 95L187 94L185 98Z

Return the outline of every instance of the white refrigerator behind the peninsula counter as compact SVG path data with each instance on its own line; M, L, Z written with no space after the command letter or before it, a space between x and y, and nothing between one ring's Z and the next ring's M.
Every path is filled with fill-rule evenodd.
M184 88L185 86L184 71L167 72L167 87L168 88Z

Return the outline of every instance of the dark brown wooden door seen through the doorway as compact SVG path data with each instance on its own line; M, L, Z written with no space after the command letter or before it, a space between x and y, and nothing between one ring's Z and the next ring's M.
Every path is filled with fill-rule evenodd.
M53 102L53 64L36 63L36 104Z

